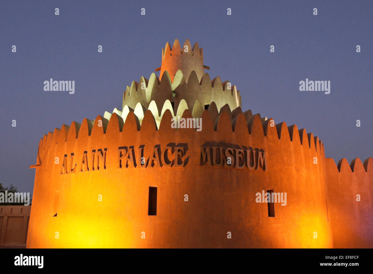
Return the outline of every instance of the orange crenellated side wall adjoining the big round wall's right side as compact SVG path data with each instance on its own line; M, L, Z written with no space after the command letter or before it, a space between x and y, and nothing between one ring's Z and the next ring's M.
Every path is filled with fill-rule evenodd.
M373 248L373 159L326 159L335 248Z

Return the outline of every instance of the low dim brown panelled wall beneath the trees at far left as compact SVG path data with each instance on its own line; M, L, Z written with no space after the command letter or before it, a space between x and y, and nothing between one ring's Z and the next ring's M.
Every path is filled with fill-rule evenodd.
M31 206L0 205L0 247L26 246Z

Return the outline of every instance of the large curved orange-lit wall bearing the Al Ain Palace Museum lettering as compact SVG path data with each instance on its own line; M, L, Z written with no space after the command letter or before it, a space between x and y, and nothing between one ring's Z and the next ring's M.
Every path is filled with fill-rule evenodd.
M150 111L141 127L132 113L124 125L116 114L110 121L98 116L93 126L84 119L81 125L73 122L45 136L39 146L42 165L35 176L27 247L333 247L323 145L312 133L300 130L300 136L296 126L288 129L285 123L271 127L258 115L247 121L239 114L231 122L227 112L214 126L208 111L203 112L201 132L176 130L170 127L171 117L166 111L157 130ZM184 117L191 117L189 110ZM210 144L214 141L263 149L265 170L201 166L201 146L219 147ZM128 161L128 167L122 162L119 168L118 148L134 146L137 158L141 145L146 159L156 145L183 147L178 161L183 167L132 167ZM93 170L90 152L105 148L106 167L101 162L97 170L96 154ZM89 171L79 171L84 151ZM75 173L60 174L61 162L55 164L55 157L62 161L66 154L70 160L71 153ZM176 149L167 153L172 160ZM157 186L156 216L148 215L149 186ZM256 202L256 193L267 189L287 193L286 206L275 204L274 218L268 217L266 203Z

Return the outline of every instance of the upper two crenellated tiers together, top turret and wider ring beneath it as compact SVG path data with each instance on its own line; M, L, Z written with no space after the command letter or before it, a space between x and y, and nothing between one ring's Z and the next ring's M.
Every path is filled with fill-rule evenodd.
M189 107L199 101L204 109L211 102L215 102L218 108L225 104L231 109L241 107L241 95L236 86L228 80L222 82L219 76L211 81L209 74L204 73L205 67L203 51L198 43L193 48L188 39L183 47L177 39L172 48L167 43L162 50L160 77L152 73L149 79L142 76L139 82L132 81L123 92L123 110L126 105L135 109L138 103L148 109L151 101L162 108L166 100L176 109L182 100Z

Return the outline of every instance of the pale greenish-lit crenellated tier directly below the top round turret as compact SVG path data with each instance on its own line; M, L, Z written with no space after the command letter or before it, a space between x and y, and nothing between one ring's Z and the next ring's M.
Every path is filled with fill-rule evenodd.
M217 76L211 81L209 74L205 73L199 81L196 73L192 71L186 82L182 71L178 70L173 82L168 72L163 74L161 80L152 73L149 80L141 77L139 82L133 81L123 93L122 108L127 105L134 109L140 103L148 109L151 101L154 101L158 108L162 108L167 100L176 109L182 100L191 107L196 101L199 101L203 107L208 107L211 102L215 102L218 108L225 104L232 109L241 107L240 92L228 80L222 82Z

